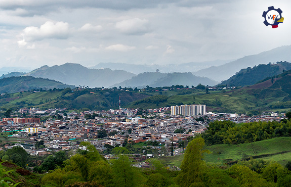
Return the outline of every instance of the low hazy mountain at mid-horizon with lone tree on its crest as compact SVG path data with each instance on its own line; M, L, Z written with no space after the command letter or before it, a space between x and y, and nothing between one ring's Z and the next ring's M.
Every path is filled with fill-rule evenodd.
M215 85L216 81L207 77L197 77L192 73L159 73L159 72L145 72L132 77L129 80L114 84L113 86L121 87L138 87L143 88L148 86L172 86L172 85L198 85L199 83L204 85Z

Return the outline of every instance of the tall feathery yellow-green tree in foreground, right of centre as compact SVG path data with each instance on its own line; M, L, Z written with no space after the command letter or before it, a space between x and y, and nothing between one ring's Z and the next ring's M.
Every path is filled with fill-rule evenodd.
M204 150L205 143L201 137L193 139L189 142L184 159L181 164L181 172L176 177L180 186L196 186L202 182L203 174L206 171L206 164L203 161L203 154L209 153Z

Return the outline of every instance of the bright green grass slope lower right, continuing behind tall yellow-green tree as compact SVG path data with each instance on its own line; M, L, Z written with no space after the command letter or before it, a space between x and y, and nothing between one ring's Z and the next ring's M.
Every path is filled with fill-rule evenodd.
M227 145L220 144L214 146L207 146L205 149L210 150L211 154L205 154L205 162L216 163L223 165L227 159L233 161L246 157L258 156L264 154L274 154L282 151L291 151L291 137L276 137L267 139L265 141ZM160 158L160 161L165 165L174 165L179 167L183 161L184 155ZM263 160L273 160L285 166L288 161L291 161L291 152L284 154L277 154L268 157L258 158Z

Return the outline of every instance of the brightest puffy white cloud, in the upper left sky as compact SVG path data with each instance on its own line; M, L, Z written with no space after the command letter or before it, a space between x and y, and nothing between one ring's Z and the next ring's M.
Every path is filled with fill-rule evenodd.
M45 38L66 39L69 35L69 24L65 22L53 23L47 21L38 27L26 27L23 36L26 41L43 40Z

